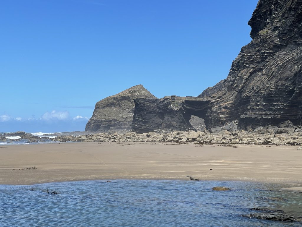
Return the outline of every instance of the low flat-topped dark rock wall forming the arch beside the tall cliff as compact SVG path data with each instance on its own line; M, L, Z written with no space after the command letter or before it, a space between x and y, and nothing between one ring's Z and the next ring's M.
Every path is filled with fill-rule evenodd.
M160 99L135 99L132 131L172 132L195 130L191 116L205 118L209 98L166 96Z

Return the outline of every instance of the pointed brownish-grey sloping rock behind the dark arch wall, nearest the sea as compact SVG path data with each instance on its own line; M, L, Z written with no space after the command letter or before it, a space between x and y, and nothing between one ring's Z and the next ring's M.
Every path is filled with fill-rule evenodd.
M131 130L134 113L134 99L156 98L143 85L130 87L116 95L104 98L95 104L85 131L93 133L126 133ZM149 132L149 131L148 131Z

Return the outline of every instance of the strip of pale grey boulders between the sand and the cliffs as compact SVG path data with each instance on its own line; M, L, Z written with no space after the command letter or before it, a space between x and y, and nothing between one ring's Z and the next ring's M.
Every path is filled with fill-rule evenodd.
M284 127L285 126L285 127ZM229 129L229 130L225 130ZM194 144L259 144L259 145L296 145L302 146L301 126L290 121L277 126L266 126L247 130L237 130L236 123L203 131L174 131L171 133L97 133L80 136L58 136L53 141L68 142L175 142Z

